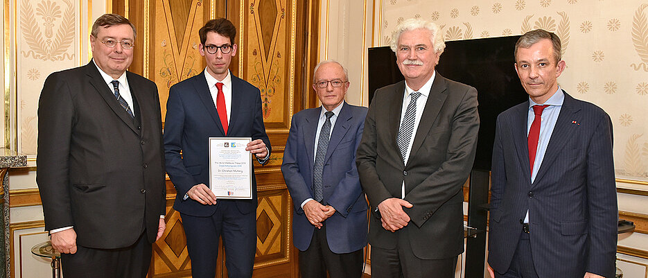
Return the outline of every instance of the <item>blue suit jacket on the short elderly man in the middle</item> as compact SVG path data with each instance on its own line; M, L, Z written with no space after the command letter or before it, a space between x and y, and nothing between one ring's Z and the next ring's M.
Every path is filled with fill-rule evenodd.
M315 133L322 107L303 110L292 116L290 134L283 152L281 172L290 191L295 211L292 218L293 243L304 251L310 245L315 226L310 224L301 203L313 196ZM349 253L367 245L367 200L356 168L367 108L344 103L331 132L324 158L323 205L335 214L325 220L326 239L334 253Z

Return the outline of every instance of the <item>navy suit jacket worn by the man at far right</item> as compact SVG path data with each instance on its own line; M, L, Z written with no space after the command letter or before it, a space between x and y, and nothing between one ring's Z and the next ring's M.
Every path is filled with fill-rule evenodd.
M612 123L591 103L565 93L538 174L531 183L529 103L497 119L491 175L489 264L511 266L529 210L530 245L539 277L614 277L617 241Z

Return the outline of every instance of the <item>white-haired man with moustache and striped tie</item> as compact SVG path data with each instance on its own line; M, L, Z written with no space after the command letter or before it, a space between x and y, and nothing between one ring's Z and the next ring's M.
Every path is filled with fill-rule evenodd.
M405 81L376 90L369 107L357 163L372 209L372 277L454 277L464 250L477 90L435 72L444 46L433 23L399 24L392 50Z

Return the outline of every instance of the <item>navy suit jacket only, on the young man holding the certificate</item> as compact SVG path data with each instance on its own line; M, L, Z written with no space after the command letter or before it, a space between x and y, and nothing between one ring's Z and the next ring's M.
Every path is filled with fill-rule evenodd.
M191 198L185 200L184 195L196 184L209 186L209 137L225 137L204 73L202 71L171 87L164 122L166 171L177 189L173 208L191 216L211 216L218 207L202 205ZM270 157L270 140L263 125L259 89L234 74L231 74L231 87L227 137L262 139ZM249 214L256 209L254 166L252 186L252 200L219 202L236 202L242 214Z

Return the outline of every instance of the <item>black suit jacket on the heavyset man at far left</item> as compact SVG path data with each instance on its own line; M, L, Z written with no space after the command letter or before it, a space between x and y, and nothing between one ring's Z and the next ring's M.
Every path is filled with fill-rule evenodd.
M36 182L45 229L74 226L85 247L152 243L165 214L164 150L155 83L127 71L135 119L94 62L52 73L38 104Z

